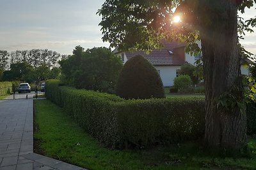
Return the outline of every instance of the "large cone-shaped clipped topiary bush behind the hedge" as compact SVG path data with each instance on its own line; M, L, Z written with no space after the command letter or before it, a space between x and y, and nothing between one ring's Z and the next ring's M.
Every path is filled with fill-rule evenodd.
M141 55L132 57L124 64L116 83L116 94L125 99L165 97L159 74Z

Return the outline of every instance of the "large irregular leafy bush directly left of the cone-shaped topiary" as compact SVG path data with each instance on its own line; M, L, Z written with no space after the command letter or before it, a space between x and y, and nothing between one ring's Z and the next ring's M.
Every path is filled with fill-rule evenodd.
M113 92L122 69L121 60L108 48L83 50L83 47L76 46L74 55L61 60L63 82L77 89Z

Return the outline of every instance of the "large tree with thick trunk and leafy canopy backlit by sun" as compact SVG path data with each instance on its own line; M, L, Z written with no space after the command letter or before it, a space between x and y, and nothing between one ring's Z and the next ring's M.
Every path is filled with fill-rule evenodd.
M102 16L103 41L120 50L150 50L160 39L188 43L188 49L202 50L205 78L205 144L210 148L241 150L246 145L246 115L241 85L241 55L238 34L244 24L237 11L244 12L255 0L106 0L98 11ZM176 8L175 12L172 10ZM182 22L172 18L180 15ZM239 20L238 20L239 18ZM237 27L239 25L239 27ZM196 41L201 41L198 48Z

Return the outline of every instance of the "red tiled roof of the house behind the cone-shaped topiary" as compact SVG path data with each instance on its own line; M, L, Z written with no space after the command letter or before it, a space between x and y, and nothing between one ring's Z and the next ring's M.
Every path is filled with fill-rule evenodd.
M174 53L173 49L184 47L184 44L179 43L168 43L167 41L162 41L163 48L161 50L153 49L150 53L145 53L143 51L138 52L125 52L127 59L131 59L136 55L142 55L145 57L153 66L180 66L184 64L184 60L179 57L177 53ZM173 53L170 53L172 51Z

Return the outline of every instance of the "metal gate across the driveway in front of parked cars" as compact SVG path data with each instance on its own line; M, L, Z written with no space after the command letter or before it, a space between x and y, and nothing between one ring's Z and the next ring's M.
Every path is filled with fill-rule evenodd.
M44 89L38 88L38 86L31 87L30 90L19 90L18 86L0 86L0 100L12 100L12 99L32 99L44 96Z

